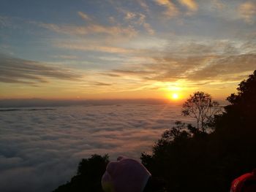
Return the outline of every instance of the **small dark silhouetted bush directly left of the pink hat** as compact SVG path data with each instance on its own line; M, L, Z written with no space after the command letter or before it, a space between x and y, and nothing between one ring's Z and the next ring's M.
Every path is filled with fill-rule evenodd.
M108 155L95 154L91 158L83 158L78 165L77 175L53 192L103 192L101 177L108 162Z

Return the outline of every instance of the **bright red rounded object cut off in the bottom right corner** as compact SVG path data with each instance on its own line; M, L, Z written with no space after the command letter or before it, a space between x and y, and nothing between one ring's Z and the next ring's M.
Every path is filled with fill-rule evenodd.
M233 180L230 192L256 192L256 169Z

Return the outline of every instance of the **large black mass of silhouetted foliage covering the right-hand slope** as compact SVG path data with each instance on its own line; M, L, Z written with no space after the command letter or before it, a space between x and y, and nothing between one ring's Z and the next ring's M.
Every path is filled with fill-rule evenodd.
M256 71L227 98L211 134L179 122L141 160L167 191L229 191L231 181L256 167Z

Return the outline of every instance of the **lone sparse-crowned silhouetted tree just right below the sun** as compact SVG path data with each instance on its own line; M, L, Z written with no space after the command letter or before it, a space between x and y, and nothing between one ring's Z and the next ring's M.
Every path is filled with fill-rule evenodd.
M211 99L208 93L197 91L190 95L182 106L182 115L195 118L197 129L206 132L208 123L214 120L214 115L221 112L219 103Z

